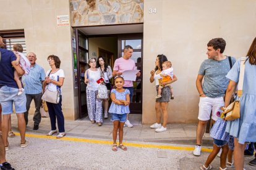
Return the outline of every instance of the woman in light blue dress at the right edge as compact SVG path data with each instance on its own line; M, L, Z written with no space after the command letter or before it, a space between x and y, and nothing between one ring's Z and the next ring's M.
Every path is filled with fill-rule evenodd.
M234 164L236 169L244 167L244 149L248 142L256 142L256 38L252 42L247 57L239 59L229 71L227 78L230 79L226 91L224 109L228 107L236 84L241 81L240 118L228 121L226 132L234 136ZM243 66L244 65L244 66ZM242 69L241 67L245 67ZM241 73L243 73L244 76ZM240 75L239 75L240 74ZM242 81L243 79L243 81Z

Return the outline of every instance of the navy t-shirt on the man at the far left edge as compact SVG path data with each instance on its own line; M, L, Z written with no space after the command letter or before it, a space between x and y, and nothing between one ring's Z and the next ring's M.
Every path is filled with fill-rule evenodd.
M1 61L0 61L0 88L2 86L9 86L13 88L19 88L14 80L14 67L12 62L17 59L14 52L7 49L1 49Z

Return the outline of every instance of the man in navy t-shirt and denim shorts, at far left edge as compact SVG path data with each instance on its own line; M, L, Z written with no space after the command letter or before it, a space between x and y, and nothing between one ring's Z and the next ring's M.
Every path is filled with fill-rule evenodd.
M14 80L14 70L22 76L24 71L20 65L15 65L17 57L14 52L3 49L4 42L0 36L0 103L2 106L2 139L5 150L9 150L7 135L9 131L9 119L13 113L12 105L15 106L15 113L18 119L21 143L20 147L27 147L28 140L25 140L26 124L24 112L26 111L26 96L25 93L18 95L19 88ZM19 54L16 54L19 55Z

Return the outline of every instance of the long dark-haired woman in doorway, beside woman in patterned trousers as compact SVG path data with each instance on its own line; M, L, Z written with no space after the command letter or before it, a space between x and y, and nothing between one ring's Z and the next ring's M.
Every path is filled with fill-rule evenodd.
M101 77L104 78L104 84L108 89L108 92L111 90L111 84L110 79L113 77L112 70L109 65L106 63L106 59L103 56L99 56L97 60L97 67L98 70L100 70ZM104 118L108 118L108 99L103 99L103 105L104 105Z

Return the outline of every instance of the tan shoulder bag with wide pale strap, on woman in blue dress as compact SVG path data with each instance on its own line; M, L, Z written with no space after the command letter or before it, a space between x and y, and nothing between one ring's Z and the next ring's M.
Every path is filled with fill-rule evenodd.
M242 59L240 60L240 74L237 90L238 98L230 105L228 105L228 107L223 111L223 114L225 115L225 120L227 121L233 121L234 119L240 118L240 98L242 95L242 87L244 84L245 59L246 57L242 57Z

